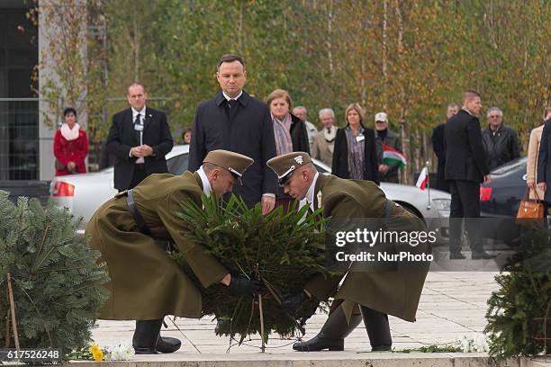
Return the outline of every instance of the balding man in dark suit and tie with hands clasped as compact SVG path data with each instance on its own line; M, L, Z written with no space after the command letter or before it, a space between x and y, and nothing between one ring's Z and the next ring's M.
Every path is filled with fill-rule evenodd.
M114 187L122 192L151 174L168 172L165 156L174 144L167 115L146 107L148 94L143 85L128 87L131 108L113 115L107 150L115 157Z

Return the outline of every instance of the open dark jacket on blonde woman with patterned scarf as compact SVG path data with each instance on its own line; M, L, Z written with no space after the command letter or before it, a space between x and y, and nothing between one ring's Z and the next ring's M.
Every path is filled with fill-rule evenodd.
M340 178L350 178L350 170L348 167L348 141L345 129L346 128L339 128L339 130L337 130L335 149L333 150L333 166L331 168L332 174ZM373 181L379 184L379 164L377 161L377 150L375 148L375 130L364 127L364 136L366 137L364 140L364 180Z

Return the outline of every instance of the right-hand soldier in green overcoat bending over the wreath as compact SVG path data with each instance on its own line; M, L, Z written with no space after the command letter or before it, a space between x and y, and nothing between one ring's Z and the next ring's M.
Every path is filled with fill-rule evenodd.
M384 192L373 182L342 179L334 175L320 175L304 152L288 153L267 161L276 172L285 193L310 205L315 211L322 208L324 218L383 220L388 233L427 233L422 220L387 200ZM299 351L322 349L344 350L344 338L357 327L362 317L372 350L390 350L392 337L388 315L415 321L420 294L429 271L430 241L416 243L393 242L391 246L373 248L392 249L418 255L419 262L374 262L363 264L360 271L338 273L333 276L314 276L304 285L304 291L287 297L282 306L290 313L300 309L310 297L327 300L334 297L330 317L318 336L303 343L295 343ZM354 265L357 265L355 263ZM339 287L339 282L346 275ZM338 288L339 287L339 288ZM358 311L359 306L359 311Z

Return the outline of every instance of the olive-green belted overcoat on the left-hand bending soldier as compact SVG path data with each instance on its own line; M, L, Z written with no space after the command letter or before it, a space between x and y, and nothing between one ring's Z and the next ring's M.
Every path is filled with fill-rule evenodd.
M203 183L197 173L149 175L133 193L151 236L172 238L204 287L228 273L203 246L185 238L182 221L176 215L182 201L201 205ZM125 195L105 202L88 222L86 234L90 246L101 251L111 278L107 283L111 296L98 318L201 317L199 289L152 237L140 233Z

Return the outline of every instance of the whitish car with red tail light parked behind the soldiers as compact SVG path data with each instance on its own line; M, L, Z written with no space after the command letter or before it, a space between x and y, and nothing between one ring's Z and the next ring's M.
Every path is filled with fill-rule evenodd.
M168 171L181 175L187 169L189 146L175 146L167 154ZM314 164L323 174L330 174L330 167L314 159ZM398 183L381 183L386 197L399 203L423 219L430 230L438 232L438 243L447 242L447 227L451 196L438 190L421 191L416 186ZM95 210L105 201L113 198L117 190L113 187L113 167L103 171L55 177L50 183L50 196L59 206L68 208L75 217L82 217L80 232Z

